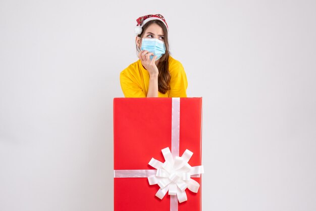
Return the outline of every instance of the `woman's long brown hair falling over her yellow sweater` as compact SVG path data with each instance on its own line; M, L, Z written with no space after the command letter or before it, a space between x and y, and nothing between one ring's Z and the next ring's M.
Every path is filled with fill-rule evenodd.
M158 63L158 70L159 70L159 74L158 74L158 90L165 94L168 90L170 90L170 79L171 79L171 75L169 73L169 43L168 43L168 30L167 27L165 26L165 24L160 21L160 20L151 20L148 21L145 25L143 25L142 27L142 32L141 34L138 35L138 37L142 37L143 33L146 31L146 28L148 28L149 25L151 24L157 24L160 27L163 28L164 31L164 41L165 41L165 45L166 45L166 52L165 54L159 59L159 63ZM137 48L137 46L136 46ZM137 49L139 50L139 49Z

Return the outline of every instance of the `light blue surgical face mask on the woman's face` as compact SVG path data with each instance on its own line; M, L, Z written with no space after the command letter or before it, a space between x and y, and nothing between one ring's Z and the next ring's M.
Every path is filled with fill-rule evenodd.
M156 60L159 60L166 52L165 43L159 39L144 38L141 41L141 50L148 50L152 52L154 56L157 56ZM153 56L150 56L152 60Z

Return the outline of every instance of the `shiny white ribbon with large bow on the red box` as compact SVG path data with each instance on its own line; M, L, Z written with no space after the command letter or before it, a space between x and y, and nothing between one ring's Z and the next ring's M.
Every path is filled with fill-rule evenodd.
M156 196L163 199L170 195L170 211L178 211L178 201L181 203L187 200L185 189L197 193L200 185L193 177L200 177L204 173L203 166L191 167L188 161L193 152L186 149L179 157L179 133L180 133L180 98L172 98L172 138L171 148L162 149L165 163L152 158L148 163L156 170L114 170L115 178L147 177L150 185L159 185L160 189Z

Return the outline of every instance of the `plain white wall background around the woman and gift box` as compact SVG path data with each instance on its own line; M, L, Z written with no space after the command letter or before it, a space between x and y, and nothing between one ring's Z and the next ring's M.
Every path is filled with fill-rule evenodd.
M156 13L203 97L203 210L316 210L314 0L1 0L0 210L113 209L113 98Z

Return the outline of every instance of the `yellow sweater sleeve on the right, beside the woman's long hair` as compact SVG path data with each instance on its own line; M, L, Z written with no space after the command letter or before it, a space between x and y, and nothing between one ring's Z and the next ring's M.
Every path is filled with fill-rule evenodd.
M169 71L171 75L169 97L187 97L188 81L182 64L177 61L170 66Z

